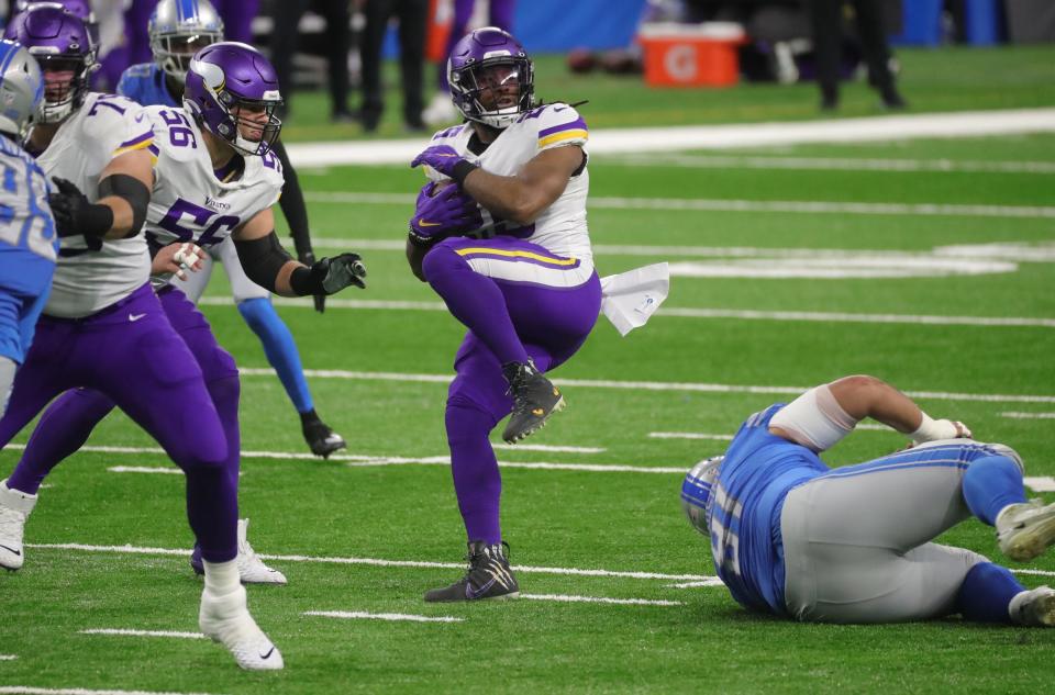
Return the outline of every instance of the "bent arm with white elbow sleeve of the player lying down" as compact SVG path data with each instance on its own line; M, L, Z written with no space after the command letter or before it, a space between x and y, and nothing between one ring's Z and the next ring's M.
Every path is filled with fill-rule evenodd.
M932 419L907 395L875 377L844 377L810 389L769 421L769 430L814 451L824 451L871 417L915 442L970 437L963 424Z

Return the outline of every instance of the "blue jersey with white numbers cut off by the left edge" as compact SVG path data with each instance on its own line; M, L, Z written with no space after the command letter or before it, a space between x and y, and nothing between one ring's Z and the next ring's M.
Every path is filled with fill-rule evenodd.
M55 272L58 235L44 170L11 138L0 135L0 290L46 294Z

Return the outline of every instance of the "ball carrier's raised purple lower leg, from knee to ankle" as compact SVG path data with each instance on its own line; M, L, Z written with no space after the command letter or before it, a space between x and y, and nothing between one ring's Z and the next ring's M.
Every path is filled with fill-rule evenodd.
M493 280L475 272L446 246L429 251L422 270L454 317L479 336L500 363L528 361L528 351L509 317L506 296Z

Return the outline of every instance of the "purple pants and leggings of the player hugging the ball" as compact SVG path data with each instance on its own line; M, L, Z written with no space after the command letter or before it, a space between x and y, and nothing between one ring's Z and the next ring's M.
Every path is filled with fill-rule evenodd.
M504 236L446 239L422 269L469 328L447 393L451 470L468 539L497 543L502 481L488 435L513 406L502 365L530 357L548 371L575 355L597 322L600 280L589 264Z

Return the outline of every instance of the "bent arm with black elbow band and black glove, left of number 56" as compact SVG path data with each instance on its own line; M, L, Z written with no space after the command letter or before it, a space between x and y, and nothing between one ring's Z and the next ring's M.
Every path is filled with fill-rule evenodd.
M154 188L154 162L146 149L114 157L99 175L99 201L92 203L73 182L55 179L48 197L58 235L97 239L135 236L146 221Z

